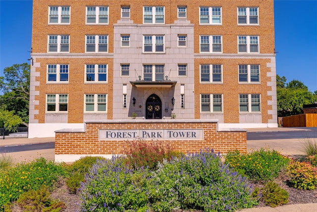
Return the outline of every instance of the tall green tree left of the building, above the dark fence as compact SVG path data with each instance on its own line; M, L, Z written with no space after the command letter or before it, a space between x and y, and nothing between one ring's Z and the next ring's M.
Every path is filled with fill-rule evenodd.
M0 77L0 110L13 111L22 122L29 122L30 65L14 64L3 70Z

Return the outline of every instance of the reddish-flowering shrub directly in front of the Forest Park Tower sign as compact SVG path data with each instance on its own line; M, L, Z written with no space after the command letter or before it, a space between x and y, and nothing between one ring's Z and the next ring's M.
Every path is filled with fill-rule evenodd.
M158 162L163 158L170 159L177 155L169 144L163 141L144 141L138 138L134 141L126 141L127 148L123 151L126 155L126 164L132 168L149 167L151 170L157 169Z

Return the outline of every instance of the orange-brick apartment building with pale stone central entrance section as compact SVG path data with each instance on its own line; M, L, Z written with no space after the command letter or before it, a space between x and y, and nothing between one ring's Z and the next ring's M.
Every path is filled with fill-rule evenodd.
M84 120L277 127L273 0L33 0L29 138Z

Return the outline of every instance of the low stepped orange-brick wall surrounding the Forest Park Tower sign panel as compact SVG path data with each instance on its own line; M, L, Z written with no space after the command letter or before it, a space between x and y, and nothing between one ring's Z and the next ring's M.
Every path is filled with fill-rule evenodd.
M170 121L170 120L168 120ZM173 150L180 152L197 152L205 147L213 148L220 153L229 150L247 151L247 134L245 130L235 129L228 131L217 131L217 123L212 122L146 122L128 121L127 123L86 123L85 132L66 132L63 130L55 132L55 157L58 155L94 155L94 154L119 154L126 142L101 141L99 140L100 129L203 129L203 140L171 140L169 143ZM151 140L150 140L151 141Z

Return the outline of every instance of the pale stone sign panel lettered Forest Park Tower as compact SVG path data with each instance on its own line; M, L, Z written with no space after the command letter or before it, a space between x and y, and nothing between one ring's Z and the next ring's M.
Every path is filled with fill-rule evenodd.
M99 140L203 140L203 129L164 130L99 130Z

